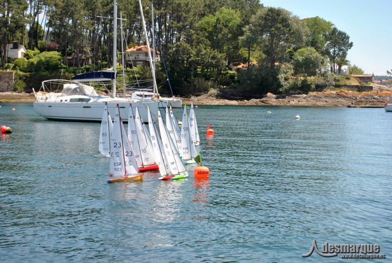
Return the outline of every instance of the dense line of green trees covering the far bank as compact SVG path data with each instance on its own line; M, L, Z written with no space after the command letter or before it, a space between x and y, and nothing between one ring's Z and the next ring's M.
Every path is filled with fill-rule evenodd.
M15 61L14 69L81 72L112 66L113 22L102 17L113 16L113 0L0 3L1 50L12 41L29 49L26 59ZM151 1L142 3L151 32ZM126 19L127 46L144 44L138 1L118 0L118 10ZM265 7L258 0L155 0L154 18L154 41L177 94L233 87L261 95L333 85L333 73L340 74L349 65L347 52L353 46L331 22L319 17L300 20L288 10ZM92 65L77 63L76 70L69 68L67 56L88 53ZM3 52L3 69L7 62ZM229 65L239 63L246 64L245 70L229 70Z

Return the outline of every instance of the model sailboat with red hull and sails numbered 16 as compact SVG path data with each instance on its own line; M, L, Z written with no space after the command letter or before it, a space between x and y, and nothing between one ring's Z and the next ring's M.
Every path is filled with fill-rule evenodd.
M146 131L142 125L139 109L135 113L129 106L128 114L128 140L135 154L136 162L140 172L159 169L152 156L152 149L147 141Z

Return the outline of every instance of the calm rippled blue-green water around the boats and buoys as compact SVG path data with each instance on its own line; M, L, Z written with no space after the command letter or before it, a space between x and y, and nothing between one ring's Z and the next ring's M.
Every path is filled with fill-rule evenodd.
M107 184L99 123L0 105L14 131L0 139L2 262L330 262L301 257L313 239L392 257L384 109L200 106L208 180Z

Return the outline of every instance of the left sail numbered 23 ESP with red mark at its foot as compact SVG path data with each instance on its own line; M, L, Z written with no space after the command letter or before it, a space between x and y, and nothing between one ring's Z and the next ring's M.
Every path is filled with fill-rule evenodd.
M111 179L125 177L123 142L121 136L120 114L114 117L112 136L110 137L109 177Z

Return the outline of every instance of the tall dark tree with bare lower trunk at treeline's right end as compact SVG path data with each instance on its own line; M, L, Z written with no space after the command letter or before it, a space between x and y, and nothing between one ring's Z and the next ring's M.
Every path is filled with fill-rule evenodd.
M343 31L333 27L331 32L325 34L326 52L332 66L332 71L336 73L336 61L338 58L346 58L347 52L352 48L353 43L350 42L350 37Z

